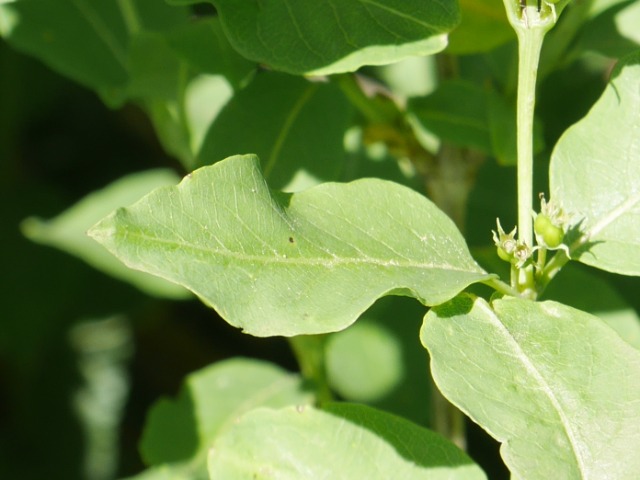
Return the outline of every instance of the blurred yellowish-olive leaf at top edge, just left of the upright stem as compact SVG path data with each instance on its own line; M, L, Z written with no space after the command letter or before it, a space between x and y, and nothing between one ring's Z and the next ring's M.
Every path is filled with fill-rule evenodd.
M462 21L451 32L447 53L468 55L488 52L515 38L502 2L460 0Z

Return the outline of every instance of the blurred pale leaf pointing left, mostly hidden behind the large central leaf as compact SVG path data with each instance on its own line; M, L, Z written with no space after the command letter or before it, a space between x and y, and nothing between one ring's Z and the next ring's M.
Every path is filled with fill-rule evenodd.
M86 232L114 208L138 200L154 188L171 185L178 180L170 170L149 170L131 174L94 192L56 218L44 221L28 218L22 223L23 233L34 242L50 245L75 255L98 270L132 283L146 293L168 298L186 298L189 292L174 283L125 268L96 245Z

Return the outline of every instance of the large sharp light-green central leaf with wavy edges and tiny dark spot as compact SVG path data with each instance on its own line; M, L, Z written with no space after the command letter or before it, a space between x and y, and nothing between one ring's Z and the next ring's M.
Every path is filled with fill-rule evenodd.
M272 194L253 155L196 170L90 235L257 336L341 330L381 296L434 305L490 278L418 193L365 179Z

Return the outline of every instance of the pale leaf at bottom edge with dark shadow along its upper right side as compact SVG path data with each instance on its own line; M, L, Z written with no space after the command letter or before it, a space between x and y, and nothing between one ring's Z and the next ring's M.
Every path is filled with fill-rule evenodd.
M484 479L440 435L363 405L256 409L216 441L210 478Z

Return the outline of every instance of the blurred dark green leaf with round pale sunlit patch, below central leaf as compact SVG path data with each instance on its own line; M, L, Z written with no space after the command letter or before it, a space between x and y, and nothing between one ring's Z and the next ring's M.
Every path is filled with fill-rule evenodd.
M425 309L404 297L386 297L326 345L333 390L421 425L429 421L428 356L416 335Z

